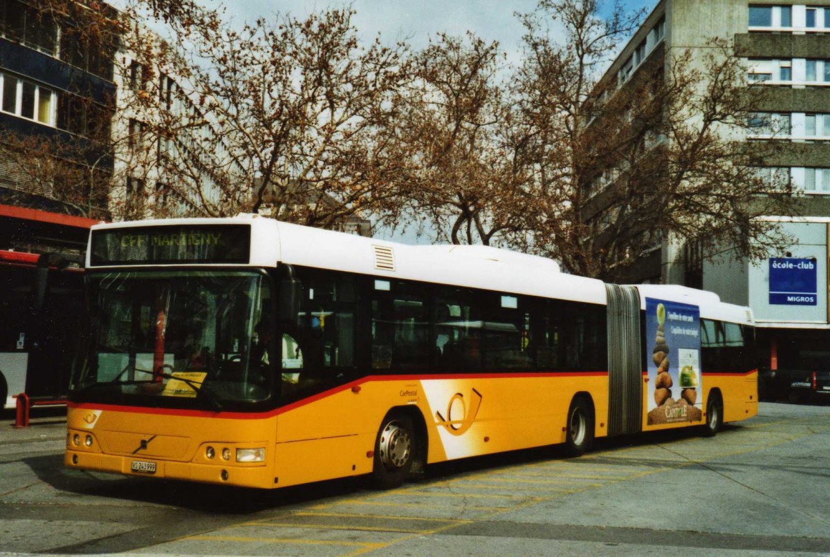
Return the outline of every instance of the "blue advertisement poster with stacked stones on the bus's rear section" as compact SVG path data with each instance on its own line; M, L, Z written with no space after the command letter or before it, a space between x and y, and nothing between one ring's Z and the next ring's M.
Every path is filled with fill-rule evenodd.
M646 298L648 425L700 422L701 310Z

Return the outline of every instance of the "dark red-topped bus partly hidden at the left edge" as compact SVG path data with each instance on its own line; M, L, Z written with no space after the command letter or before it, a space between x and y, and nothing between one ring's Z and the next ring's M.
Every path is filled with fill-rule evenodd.
M82 330L84 271L75 254L0 250L0 404L66 396Z

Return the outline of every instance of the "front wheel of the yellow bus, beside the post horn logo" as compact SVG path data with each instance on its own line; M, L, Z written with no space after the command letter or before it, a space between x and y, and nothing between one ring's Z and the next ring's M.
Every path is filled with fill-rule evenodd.
M374 486L400 487L412 469L416 445L413 420L403 413L387 414L374 442Z

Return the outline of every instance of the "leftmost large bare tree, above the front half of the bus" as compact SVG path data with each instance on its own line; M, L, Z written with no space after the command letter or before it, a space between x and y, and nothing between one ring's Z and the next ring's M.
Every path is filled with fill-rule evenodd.
M392 203L401 164L393 124L398 91L409 79L406 49L379 40L359 46L353 14L285 15L240 31L214 20L190 28L191 56L172 47L148 56L180 78L178 94L192 107L179 128L174 118L156 127L176 148L168 172L210 177L211 195L179 193L194 212L252 211L334 226ZM203 133L190 133L193 127Z

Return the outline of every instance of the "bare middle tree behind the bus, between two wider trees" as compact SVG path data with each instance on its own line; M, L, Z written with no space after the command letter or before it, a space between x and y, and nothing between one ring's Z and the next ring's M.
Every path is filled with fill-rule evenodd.
M511 149L498 43L441 34L415 57L399 137L410 157L410 220L453 244L520 236L525 174Z

